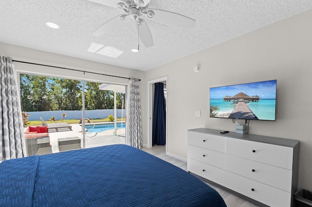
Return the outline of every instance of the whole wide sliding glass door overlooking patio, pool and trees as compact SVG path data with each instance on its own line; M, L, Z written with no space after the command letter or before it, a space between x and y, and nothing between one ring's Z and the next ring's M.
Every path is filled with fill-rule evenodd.
M52 153L125 144L126 86L20 74L20 94L25 129L46 125Z

